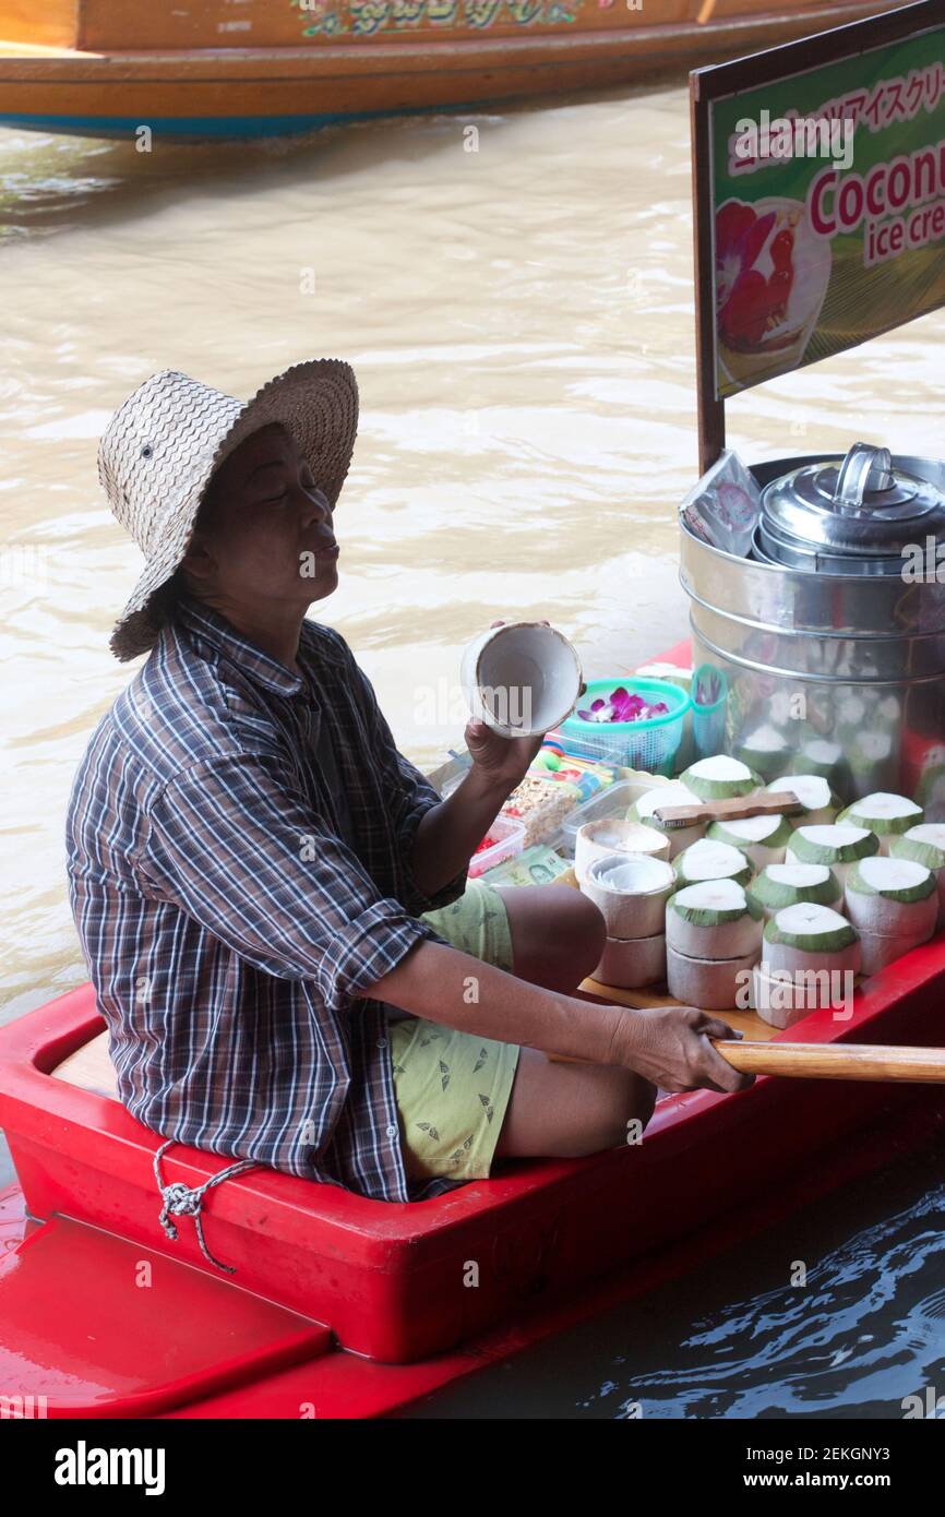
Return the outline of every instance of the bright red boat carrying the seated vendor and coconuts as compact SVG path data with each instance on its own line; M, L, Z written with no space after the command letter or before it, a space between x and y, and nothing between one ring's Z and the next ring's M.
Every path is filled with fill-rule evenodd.
M686 666L689 646L664 658ZM775 1032L727 1015L754 1038L939 1044L943 992L945 934L863 981L846 1019ZM205 1201L231 1276L190 1218L176 1242L162 1232L161 1139L114 1098L105 1041L91 986L0 1030L18 1176L0 1194L6 1414L12 1399L44 1417L378 1415L704 1264L945 1121L940 1086L760 1077L661 1098L636 1147L510 1164L416 1204L250 1170ZM164 1182L203 1185L226 1164L179 1145ZM137 1288L144 1267L159 1312Z

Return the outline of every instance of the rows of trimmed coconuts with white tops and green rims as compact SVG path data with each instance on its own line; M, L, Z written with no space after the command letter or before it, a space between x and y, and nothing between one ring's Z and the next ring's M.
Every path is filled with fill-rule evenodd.
M643 851L616 834L611 850L602 836L584 840L581 889L608 933L595 978L628 988L666 978L675 1000L710 1010L748 1004L751 985L758 1013L784 1027L812 1004L837 1004L846 971L875 974L945 922L945 824L925 824L904 796L877 792L840 810L825 777L802 774L764 786L796 795L802 812L792 818L666 827L654 816L760 789L742 760L702 758L610 824L628 839L646 834ZM828 1000L812 1003L812 989Z

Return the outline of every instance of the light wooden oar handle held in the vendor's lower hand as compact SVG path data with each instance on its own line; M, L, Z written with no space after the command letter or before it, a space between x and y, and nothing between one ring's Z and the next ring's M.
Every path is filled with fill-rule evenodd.
M945 1083L945 1048L881 1044L778 1044L713 1038L713 1047L742 1074L784 1074L801 1080L921 1080Z

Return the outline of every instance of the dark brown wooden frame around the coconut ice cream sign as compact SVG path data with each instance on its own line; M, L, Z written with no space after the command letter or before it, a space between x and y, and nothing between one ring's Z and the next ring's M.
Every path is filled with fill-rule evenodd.
M842 62L889 42L945 24L945 0L913 5L866 21L771 47L730 64L696 68L689 76L692 130L693 262L696 288L696 387L699 413L699 473L713 466L725 448L725 400L716 396L716 272L711 203L710 108L714 100L778 83L825 64Z

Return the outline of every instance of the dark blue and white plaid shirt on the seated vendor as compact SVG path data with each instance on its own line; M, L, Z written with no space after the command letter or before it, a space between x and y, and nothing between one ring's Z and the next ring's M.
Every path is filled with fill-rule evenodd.
M435 897L417 889L411 843L440 796L341 634L305 622L297 663L181 604L76 775L73 913L140 1121L417 1200L455 1182L407 1180L388 1007L363 992L443 941L417 913L457 900L466 869Z

